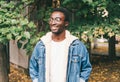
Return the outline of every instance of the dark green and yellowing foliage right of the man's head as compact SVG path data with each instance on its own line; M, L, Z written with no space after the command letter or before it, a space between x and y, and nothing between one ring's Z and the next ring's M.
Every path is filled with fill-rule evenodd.
M70 30L83 42L120 35L120 2L114 0L63 0L72 13Z

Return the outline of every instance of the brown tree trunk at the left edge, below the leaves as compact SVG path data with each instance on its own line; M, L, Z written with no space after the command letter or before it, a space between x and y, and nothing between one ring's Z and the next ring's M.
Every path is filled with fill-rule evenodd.
M0 44L0 82L9 82L5 45Z

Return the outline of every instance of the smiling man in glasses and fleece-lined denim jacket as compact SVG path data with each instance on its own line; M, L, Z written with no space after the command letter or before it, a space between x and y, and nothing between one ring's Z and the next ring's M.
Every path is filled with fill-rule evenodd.
M92 67L86 47L66 30L69 14L64 8L53 10L50 30L36 44L30 59L33 82L87 82Z

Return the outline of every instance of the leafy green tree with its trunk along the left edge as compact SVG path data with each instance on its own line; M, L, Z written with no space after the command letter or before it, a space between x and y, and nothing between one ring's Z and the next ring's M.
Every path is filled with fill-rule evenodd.
M7 43L10 40L16 40L19 48L25 48L29 52L37 39L35 38L36 28L34 23L21 13L32 2L32 0L11 1L10 3L0 1L0 82L9 81L6 53ZM33 38L30 39L31 37ZM25 41L26 44L23 44Z

